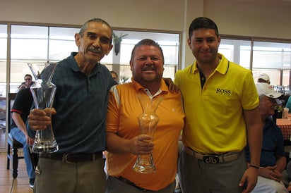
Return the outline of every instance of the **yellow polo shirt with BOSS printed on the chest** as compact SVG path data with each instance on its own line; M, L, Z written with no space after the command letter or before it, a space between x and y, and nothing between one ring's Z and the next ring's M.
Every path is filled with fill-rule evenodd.
M259 106L251 71L219 57L203 88L196 62L177 71L174 80L184 98L183 143L202 154L241 151L247 144L243 111Z

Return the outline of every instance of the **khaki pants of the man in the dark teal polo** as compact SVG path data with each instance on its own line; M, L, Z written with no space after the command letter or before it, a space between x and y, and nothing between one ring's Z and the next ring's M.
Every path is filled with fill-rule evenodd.
M35 193L104 193L106 178L103 158L66 163L40 158L35 173Z

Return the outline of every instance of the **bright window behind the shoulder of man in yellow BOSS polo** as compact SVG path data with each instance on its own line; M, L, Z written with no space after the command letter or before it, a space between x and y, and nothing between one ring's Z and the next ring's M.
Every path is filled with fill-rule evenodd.
M253 46L251 46L252 44ZM291 42L275 42L275 40L267 42L222 37L219 52L230 61L251 69L255 82L261 73L267 73L271 79L271 85L281 85L283 91L287 91L285 94L289 94Z

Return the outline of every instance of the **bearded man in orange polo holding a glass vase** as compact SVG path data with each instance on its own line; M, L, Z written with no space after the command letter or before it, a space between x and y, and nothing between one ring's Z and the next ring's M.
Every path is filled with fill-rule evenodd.
M162 80L164 56L151 39L138 42L131 53L132 78L112 87L107 110L106 192L172 193L177 173L178 140L184 127L182 96L170 92ZM162 97L156 115L160 118L154 137L141 135L138 116L143 113L138 95ZM137 155L153 154L155 172L133 170Z

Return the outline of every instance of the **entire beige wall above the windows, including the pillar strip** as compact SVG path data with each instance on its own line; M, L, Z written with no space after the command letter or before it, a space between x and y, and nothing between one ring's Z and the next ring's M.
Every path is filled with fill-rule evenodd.
M82 25L103 18L112 27L179 31L184 68L194 61L186 45L194 18L212 18L223 35L291 40L290 10L290 0L0 0L0 23Z

